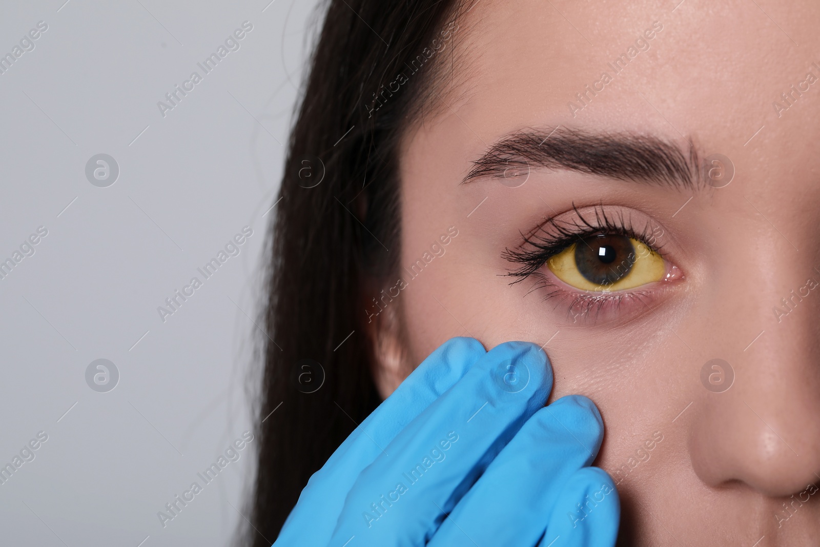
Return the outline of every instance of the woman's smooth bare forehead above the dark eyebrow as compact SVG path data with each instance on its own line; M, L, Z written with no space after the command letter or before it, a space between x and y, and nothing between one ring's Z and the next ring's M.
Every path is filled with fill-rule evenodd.
M754 169L814 162L818 22L820 2L478 0L453 42L456 89L406 142L465 172L533 125L692 139Z

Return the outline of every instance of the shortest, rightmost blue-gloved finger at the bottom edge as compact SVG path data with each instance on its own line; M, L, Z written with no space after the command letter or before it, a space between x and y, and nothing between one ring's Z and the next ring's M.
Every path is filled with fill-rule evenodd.
M612 478L599 467L582 467L558 495L539 547L613 547L620 519Z

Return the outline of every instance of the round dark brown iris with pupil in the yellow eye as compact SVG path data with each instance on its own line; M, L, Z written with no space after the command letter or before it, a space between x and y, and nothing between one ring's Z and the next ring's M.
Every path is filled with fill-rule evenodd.
M590 283L612 285L632 271L635 247L626 235L590 235L576 244L575 263Z

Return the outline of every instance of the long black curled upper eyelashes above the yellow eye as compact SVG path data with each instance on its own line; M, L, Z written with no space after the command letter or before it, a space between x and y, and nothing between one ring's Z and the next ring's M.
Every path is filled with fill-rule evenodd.
M590 222L578 211L575 203L572 203L572 210L575 211L579 221L557 221L555 217L550 217L540 226L535 228L529 235L522 233L524 241L517 248L505 248L502 258L510 262L521 264L515 270L508 271L507 276L516 277L510 285L525 280L540 270L549 258L561 253L572 244L577 243L588 235L595 234L618 234L626 235L633 239L640 240L643 244L663 257L663 245L649 244L647 239L654 235L654 231L649 225L649 221L641 230L636 230L631 217L624 217L622 211L610 217L604 205L595 206L593 211L595 221ZM548 230L551 228L552 230Z

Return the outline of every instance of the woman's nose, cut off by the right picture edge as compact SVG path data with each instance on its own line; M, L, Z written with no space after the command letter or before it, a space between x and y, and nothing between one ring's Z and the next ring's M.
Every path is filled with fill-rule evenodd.
M804 271L802 280L795 270ZM739 481L763 495L788 496L820 485L820 274L795 262L758 271L768 279L726 285L739 305L716 304L701 333L703 347L722 353L713 357L728 366L703 365L690 458L707 485ZM749 291L749 281L757 291Z

